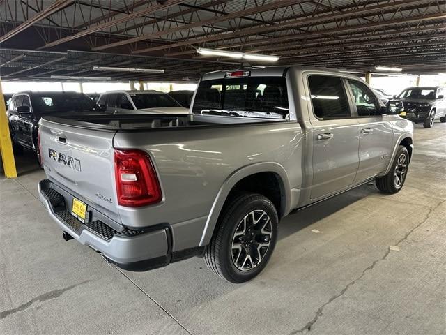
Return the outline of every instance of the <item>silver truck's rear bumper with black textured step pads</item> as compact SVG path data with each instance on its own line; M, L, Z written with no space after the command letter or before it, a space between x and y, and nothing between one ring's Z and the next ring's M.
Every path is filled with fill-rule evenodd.
M169 228L134 231L118 223L107 225L97 219L103 215L90 206L91 218L82 223L70 214L73 198L70 193L48 179L40 181L38 191L49 216L79 243L91 246L109 262L132 271L145 271L169 264Z

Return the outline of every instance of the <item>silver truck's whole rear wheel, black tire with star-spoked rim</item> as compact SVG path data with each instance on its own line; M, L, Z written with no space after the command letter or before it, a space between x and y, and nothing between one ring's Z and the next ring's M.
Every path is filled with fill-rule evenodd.
M204 255L206 265L232 283L249 281L266 267L277 241L278 223L268 198L256 193L237 195L220 214Z

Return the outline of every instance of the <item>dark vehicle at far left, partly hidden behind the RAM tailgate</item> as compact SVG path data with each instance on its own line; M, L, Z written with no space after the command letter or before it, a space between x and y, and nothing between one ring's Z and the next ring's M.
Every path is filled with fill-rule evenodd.
M14 149L31 149L40 162L37 135L40 117L96 114L99 111L100 107L81 93L26 91L14 94L6 112Z

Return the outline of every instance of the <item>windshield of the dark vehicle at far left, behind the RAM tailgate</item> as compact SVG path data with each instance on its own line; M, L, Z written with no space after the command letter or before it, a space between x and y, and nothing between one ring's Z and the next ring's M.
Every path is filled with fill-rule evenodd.
M76 93L35 93L32 95L32 105L41 114L51 112L70 112L79 110L99 110L91 98Z

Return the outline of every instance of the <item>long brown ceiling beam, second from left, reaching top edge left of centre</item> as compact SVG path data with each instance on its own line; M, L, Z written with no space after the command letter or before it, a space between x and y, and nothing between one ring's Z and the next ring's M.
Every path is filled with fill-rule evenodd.
M89 29L85 29L85 30L79 31L78 33L76 33L74 35L66 36L66 37L60 38L59 40L54 40L52 42L49 42L49 43L43 45L42 47L38 47L37 50L42 50L42 49L45 49L47 47L54 47L56 45L60 45L60 44L69 42L70 40L75 40L76 38L87 36L89 34L95 33L96 31L101 31L101 30L107 29L109 27L116 26L117 24L121 24L121 23L130 21L130 20L137 19L138 17L147 15L149 13L153 13L153 12L155 12L157 10L161 10L161 9L164 9L164 8L169 8L169 7L177 5L178 3L183 2L183 1L184 0L166 0L163 3L157 4L157 5L154 5L154 6L150 6L150 7L146 8L146 9L144 9L144 10L139 10L138 12L134 12L132 14L128 14L128 15L125 15L123 17L119 17L119 18L117 18L115 20L110 20L108 22L104 22L102 24L98 24L98 25L96 25L94 27L91 27Z

